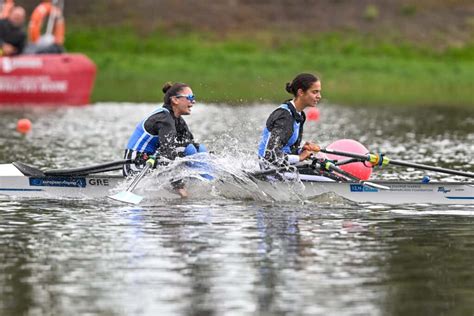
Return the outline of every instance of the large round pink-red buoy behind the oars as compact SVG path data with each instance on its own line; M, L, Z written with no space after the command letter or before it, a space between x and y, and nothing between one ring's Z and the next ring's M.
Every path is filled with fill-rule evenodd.
M334 143L330 144L329 146L327 146L326 148L337 150L337 151L345 151L349 153L360 154L360 155L366 155L369 153L369 150L365 148L364 145L352 139L339 139L335 141ZM327 154L327 156L331 160L338 160L338 161L350 159L349 157L332 155L332 154ZM369 166L368 163L367 165ZM367 167L363 162L351 162L346 165L341 165L338 167L362 180L369 180L370 175L372 174L372 168Z

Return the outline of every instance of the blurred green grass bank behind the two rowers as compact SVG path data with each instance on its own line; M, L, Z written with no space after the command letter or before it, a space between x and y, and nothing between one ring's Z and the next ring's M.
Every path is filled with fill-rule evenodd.
M474 107L474 43L437 51L354 33L219 38L71 27L67 49L97 64L94 102L160 102L166 81L189 83L204 102L278 102L287 81L312 72L331 103Z

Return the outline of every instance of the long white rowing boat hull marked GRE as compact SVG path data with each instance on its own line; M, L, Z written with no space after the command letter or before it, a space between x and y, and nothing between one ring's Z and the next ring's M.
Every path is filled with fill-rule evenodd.
M110 175L25 176L12 164L0 165L0 196L103 198L116 193L117 187L123 181L124 178L121 176ZM294 182L269 182L256 179L251 181L251 185L238 184L235 181L219 181L211 185L218 187L218 192L228 198L249 198L261 193L277 201L289 200L295 196L311 200L325 194L336 194L357 203L474 205L474 183L396 181L375 181L374 183L390 189L377 189L356 183L310 180L303 180L296 185ZM200 183L196 186L202 185ZM192 188L190 189L192 191Z

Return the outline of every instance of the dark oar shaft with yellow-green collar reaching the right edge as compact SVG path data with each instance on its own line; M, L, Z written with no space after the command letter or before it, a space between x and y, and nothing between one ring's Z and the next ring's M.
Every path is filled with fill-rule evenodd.
M339 156L344 156L344 157L357 158L357 159L360 159L361 161L368 161L374 166L388 166L390 164L390 165L411 167L411 168L416 168L416 169L423 169L423 170L435 171L435 172L440 172L440 173L452 174L452 175L456 175L456 176L474 178L474 173L472 173L472 172L439 168L439 167L428 166L428 165L412 163L412 162L407 162L407 161L401 161L401 160L393 160L393 159L388 159L387 157L385 157L382 154L379 154L379 155L376 155L376 154L361 155L361 154L356 154L356 153L351 153L351 152L332 150L332 149L328 149L328 148L325 148L325 149L322 148L321 152L326 153L326 154L333 154L333 155L339 155Z

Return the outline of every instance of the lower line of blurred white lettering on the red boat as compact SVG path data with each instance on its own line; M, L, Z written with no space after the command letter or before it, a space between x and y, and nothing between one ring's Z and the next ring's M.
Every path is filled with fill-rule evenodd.
M52 80L49 76L0 77L0 92L65 93L67 90L67 80Z

